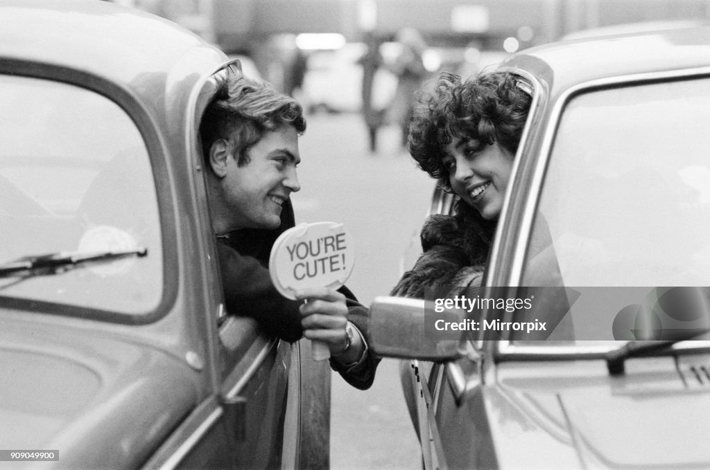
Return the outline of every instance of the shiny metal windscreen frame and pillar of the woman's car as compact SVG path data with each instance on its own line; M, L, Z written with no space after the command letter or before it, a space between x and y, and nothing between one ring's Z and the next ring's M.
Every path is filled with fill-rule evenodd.
M519 69L517 72L521 72ZM529 74L528 74L529 75ZM550 106L549 90L540 86L540 81L532 77L534 89L533 105L531 115L528 116L528 123L523 133L523 140L520 142L516 164L513 166L513 176L506 200L501 211L501 221L496 237L493 240L493 250L489 267L498 283L496 285L509 286L510 291L514 291L520 286L523 276L525 257L530 248L533 225L537 214L537 207L542 195L542 185L545 181L547 166L552 155L552 147L555 145L555 138L562 114L566 110L570 101L580 94L586 94L603 89L611 89L625 86L638 86L643 84L653 84L658 82L672 82L680 80L710 79L710 67L691 67L683 69L670 69L655 72L643 72L635 74L622 74L603 79L593 79L580 82L562 91ZM543 93L544 92L544 93ZM535 97L539 96L537 106ZM542 104L545 106L542 106ZM549 109L549 111L547 111ZM542 129L542 135L538 129ZM535 133L528 139L528 132ZM535 143L539 142L538 147ZM521 161L521 157L527 153L528 158ZM521 181L527 180L524 185ZM503 252L502 247L513 247L513 250ZM506 259L506 254L513 253L512 259ZM491 277L485 281L491 281ZM486 284L488 285L488 284ZM513 292L514 293L514 292ZM484 316L486 312L484 311ZM508 315L510 317L510 315ZM510 318L506 318L509 321ZM508 340L498 340L488 342L492 347L493 358L496 362L517 361L517 360L574 360L574 359L601 359L604 354L616 349L613 345L565 345L550 346L545 342L540 345L513 345ZM479 345L482 343L479 342ZM617 346L618 347L618 346ZM687 341L674 345L671 349L674 352L692 353L710 347L707 341Z

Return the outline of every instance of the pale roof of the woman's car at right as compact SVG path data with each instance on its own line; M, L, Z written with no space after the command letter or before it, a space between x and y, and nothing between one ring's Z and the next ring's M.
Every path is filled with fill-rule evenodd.
M565 40L510 56L552 96L574 85L631 74L710 67L710 26Z

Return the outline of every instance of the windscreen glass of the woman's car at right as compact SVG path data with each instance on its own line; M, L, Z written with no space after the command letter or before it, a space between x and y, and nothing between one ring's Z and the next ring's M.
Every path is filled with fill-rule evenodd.
M706 78L597 89L564 109L521 282L567 288L552 310L573 328L559 339L708 328L708 89Z

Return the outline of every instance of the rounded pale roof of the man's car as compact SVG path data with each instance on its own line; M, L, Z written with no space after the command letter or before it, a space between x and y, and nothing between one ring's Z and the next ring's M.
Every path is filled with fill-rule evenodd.
M175 23L108 1L0 0L0 59L77 69L150 99L226 56Z

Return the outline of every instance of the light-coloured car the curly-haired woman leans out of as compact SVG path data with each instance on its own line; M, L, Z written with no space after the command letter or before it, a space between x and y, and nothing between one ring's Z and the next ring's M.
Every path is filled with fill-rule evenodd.
M481 288L371 307L424 468L710 468L710 28L540 45L498 69L532 107ZM453 199L435 191L430 213ZM526 300L534 317L508 311Z

